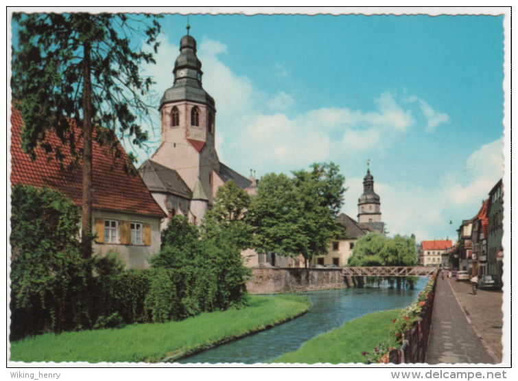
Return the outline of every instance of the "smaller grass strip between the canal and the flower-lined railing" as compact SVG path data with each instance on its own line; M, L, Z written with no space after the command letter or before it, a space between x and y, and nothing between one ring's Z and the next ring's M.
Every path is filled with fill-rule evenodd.
M307 341L296 351L287 353L274 362L316 364L365 363L367 356L362 351L373 353L373 349L387 340L392 319L401 310L375 312L359 319L348 321L337 328Z

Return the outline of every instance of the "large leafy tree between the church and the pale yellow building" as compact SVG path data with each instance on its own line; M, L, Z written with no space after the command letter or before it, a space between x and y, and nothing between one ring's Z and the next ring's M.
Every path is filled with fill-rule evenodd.
M313 171L268 174L252 198L248 220L254 227L259 253L303 255L305 266L314 255L325 255L340 232L334 216L342 207L344 177L338 166L314 164Z

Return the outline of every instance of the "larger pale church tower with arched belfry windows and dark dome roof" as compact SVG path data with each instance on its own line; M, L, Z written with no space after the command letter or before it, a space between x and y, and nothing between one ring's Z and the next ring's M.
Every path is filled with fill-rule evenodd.
M174 62L174 84L160 102L161 146L152 160L176 170L191 190L199 182L198 190L211 205L216 189L213 173L220 172L220 160L215 150L215 103L202 87L201 68L187 25Z

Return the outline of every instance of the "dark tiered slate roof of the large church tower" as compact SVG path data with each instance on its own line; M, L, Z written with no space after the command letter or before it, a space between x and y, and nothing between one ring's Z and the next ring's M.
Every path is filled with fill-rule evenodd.
M186 100L214 107L213 97L202 87L202 62L196 56L196 40L189 34L180 40L180 55L174 62L173 73L174 84L165 91L161 108L165 103Z

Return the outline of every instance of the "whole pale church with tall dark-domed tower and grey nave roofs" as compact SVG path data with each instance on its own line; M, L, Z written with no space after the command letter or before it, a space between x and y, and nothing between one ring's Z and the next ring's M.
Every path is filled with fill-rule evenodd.
M202 63L196 40L183 36L174 63L174 84L161 99L161 145L139 173L169 218L180 214L200 224L213 206L217 188L233 180L255 194L255 178L246 178L220 162L215 149L216 108L202 87Z

